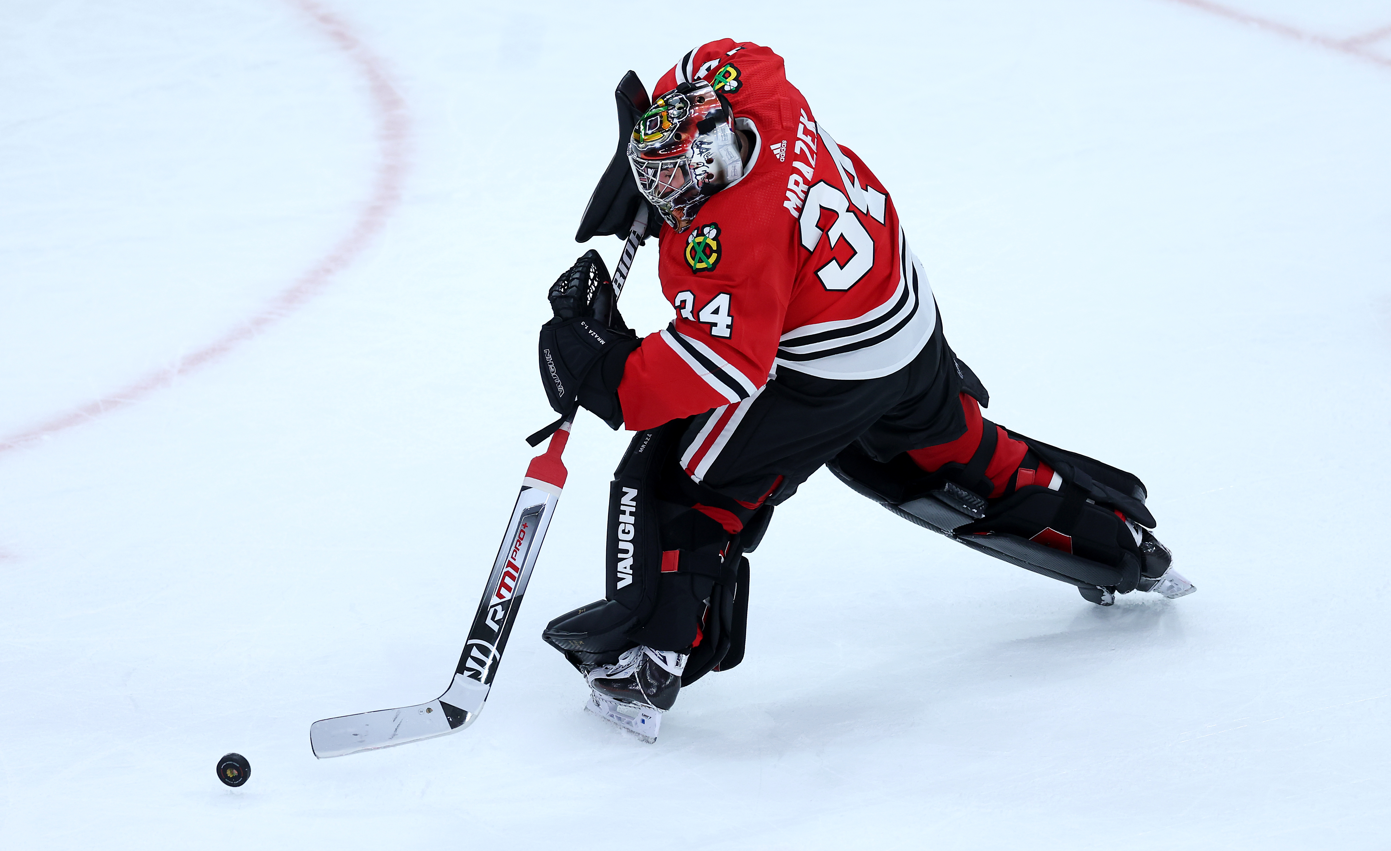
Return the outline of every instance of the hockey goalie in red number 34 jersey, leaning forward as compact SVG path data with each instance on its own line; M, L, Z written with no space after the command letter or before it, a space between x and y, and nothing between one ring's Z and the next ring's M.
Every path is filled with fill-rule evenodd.
M947 343L893 197L782 57L722 39L654 99L633 74L618 97L625 138L579 239L650 220L675 316L637 337L590 252L541 328L552 407L636 432L611 487L605 599L544 633L588 709L652 740L683 686L740 662L746 556L822 464L1093 603L1193 591L1139 478L982 417L989 394Z

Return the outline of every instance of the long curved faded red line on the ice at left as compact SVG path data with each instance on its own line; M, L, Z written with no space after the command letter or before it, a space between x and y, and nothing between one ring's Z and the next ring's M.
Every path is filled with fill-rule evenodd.
M175 378L217 360L241 343L252 339L267 325L319 295L335 274L351 266L381 231L392 209L401 202L401 188L405 182L406 171L406 136L409 127L405 100L396 92L395 86L391 85L385 65L363 44L362 39L352 32L348 24L314 0L287 0L287 3L307 15L338 49L348 54L348 58L357 65L371 90L371 102L377 114L377 142L381 159L377 163L377 177L371 196L357 214L357 220L338 243L307 271L299 275L289 288L221 338L188 355L174 366L150 373L115 392L61 413L46 423L0 438L0 453L139 402L152 392L168 387Z

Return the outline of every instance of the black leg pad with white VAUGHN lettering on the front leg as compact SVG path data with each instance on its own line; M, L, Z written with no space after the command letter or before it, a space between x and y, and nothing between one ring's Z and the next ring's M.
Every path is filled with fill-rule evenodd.
M683 651L690 684L744 655L750 544L772 506L698 485L676 463L684 420L633 437L609 491L605 598L561 615L542 638L581 672L637 645Z

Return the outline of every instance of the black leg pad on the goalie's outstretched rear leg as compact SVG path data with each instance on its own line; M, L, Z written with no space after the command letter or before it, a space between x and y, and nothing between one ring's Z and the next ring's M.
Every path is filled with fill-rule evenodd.
M995 427L986 426L988 439L967 464L925 473L906 455L881 463L850 446L828 467L893 513L972 549L1077 585L1092 602L1107 605L1110 595L1127 594L1163 574L1168 551L1141 528L1153 527L1155 517L1145 506L1139 478L1008 432L1052 466L1063 484L1059 489L1029 484L1002 499L986 499L992 484L981 471L993 452L995 434Z

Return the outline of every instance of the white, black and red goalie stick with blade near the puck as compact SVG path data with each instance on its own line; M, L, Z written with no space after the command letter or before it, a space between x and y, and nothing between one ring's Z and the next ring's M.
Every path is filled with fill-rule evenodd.
M623 292L623 282L633 266L637 246L647 236L647 207L637 211L623 254L613 270L613 295ZM512 519L502 537L502 546L492 560L492 573L483 588L483 599L473 616L469 638L455 667L453 680L444 694L428 704L378 709L317 720L309 727L309 745L314 756L346 756L359 751L374 751L448 736L467 727L483 712L492 677L506 648L512 624L516 623L522 595L526 592L531 569L541 553L541 541L551 526L555 506L565 488L566 470L561 460L570 438L573 414L551 435L545 452L531 459L522 492L512 506Z

